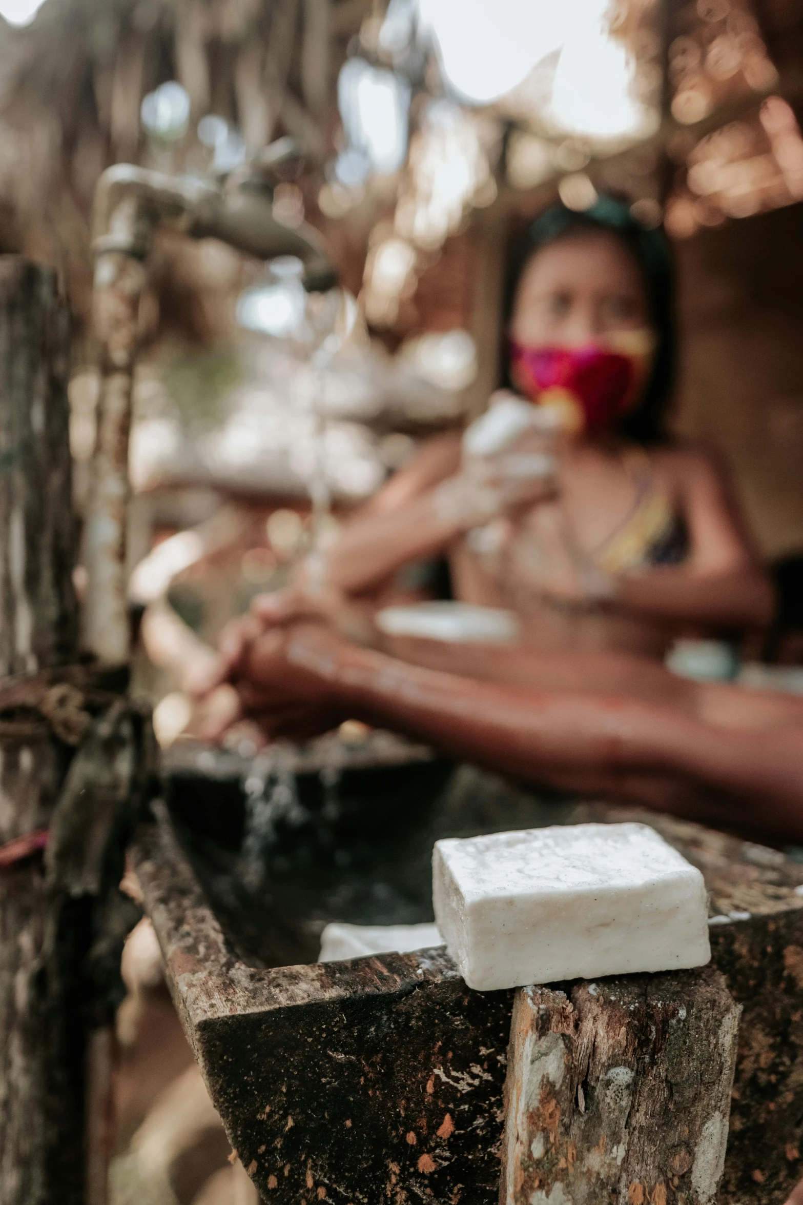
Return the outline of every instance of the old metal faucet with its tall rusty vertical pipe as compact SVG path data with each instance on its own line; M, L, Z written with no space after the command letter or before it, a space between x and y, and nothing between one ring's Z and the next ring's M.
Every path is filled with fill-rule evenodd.
M271 148L267 151L262 166L274 166L291 153L285 147L271 158ZM296 255L305 265L303 283L311 292L337 283L318 233L307 224L291 229L276 221L272 188L259 172L207 181L117 164L100 177L93 240L100 394L84 527L88 581L83 645L108 665L125 664L130 656L125 535L131 392L144 264L159 227L178 229L193 239L220 239L258 259Z

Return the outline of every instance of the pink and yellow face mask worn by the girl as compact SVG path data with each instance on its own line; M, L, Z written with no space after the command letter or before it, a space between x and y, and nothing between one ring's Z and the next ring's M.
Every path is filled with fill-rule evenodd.
M654 349L651 330L621 331L580 347L527 347L512 340L510 376L532 401L557 410L567 430L596 435L633 408Z

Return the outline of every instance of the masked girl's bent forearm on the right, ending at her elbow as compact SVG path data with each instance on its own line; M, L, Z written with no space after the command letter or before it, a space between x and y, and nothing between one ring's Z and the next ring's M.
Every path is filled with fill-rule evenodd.
M770 623L773 589L760 571L695 574L653 569L619 580L614 606L712 628L763 628Z

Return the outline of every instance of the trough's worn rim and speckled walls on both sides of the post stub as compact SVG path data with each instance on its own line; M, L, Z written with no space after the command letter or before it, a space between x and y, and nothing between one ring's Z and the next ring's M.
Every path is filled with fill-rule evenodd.
M803 866L651 813L567 805L560 819L625 815L703 870L714 964L744 1007L720 1205L783 1205L803 1171ZM512 993L468 992L432 951L260 969L224 935L166 810L135 859L185 1030L266 1200L497 1200Z

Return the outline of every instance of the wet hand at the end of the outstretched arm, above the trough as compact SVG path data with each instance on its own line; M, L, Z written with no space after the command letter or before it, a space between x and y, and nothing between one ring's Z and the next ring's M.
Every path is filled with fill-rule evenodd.
M295 623L262 630L246 642L224 684L208 698L202 730L219 740L242 719L255 722L268 740L307 740L347 718L332 675L344 641L323 624Z

